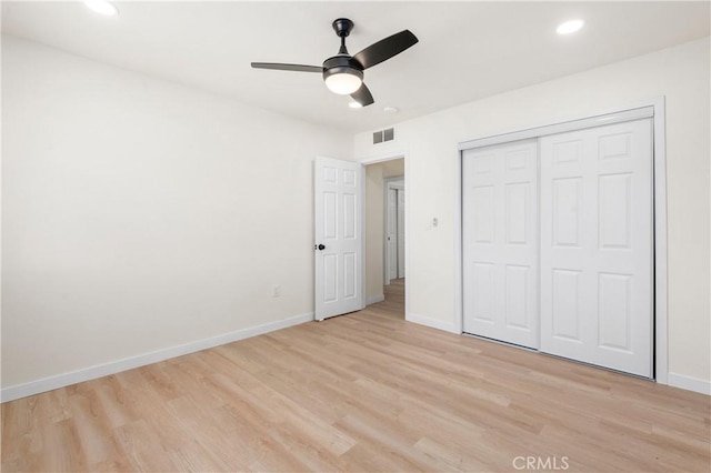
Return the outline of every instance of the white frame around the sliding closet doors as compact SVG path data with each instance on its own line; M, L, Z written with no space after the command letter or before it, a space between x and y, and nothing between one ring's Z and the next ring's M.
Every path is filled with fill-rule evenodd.
M481 137L458 144L455 157L454 190L454 324L459 333L463 328L463 288L462 288L462 152L464 150L502 144L547 134L562 133L603 124L612 124L642 118L652 119L652 174L653 174L653 255L652 274L654 278L652 356L653 379L660 384L669 384L668 368L668 271L667 271L667 153L665 153L665 109L664 97L602 110L598 113L585 113L568 120L542 123L537 127L513 130L510 132ZM405 168L407 173L407 168ZM407 198L407 195L405 195ZM407 268L405 268L407 271Z

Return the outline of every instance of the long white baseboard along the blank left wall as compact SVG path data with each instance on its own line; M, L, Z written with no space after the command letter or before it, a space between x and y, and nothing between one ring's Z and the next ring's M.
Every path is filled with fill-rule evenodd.
M108 376L109 374L116 374L121 371L132 370L134 368L158 363L159 361L169 360L171 358L182 356L188 353L194 353L202 350L211 349L213 346L237 342L238 340L249 339L250 336L261 335L263 333L273 332L276 330L286 329L292 325L298 325L300 323L310 322L312 320L313 313L294 315L289 319L269 322L257 326L250 326L248 329L237 330L234 332L211 336L209 339L198 340L182 345L170 346L168 349L157 350L154 352L111 361L109 363L88 366L81 370L71 371L69 373L57 374L54 376L44 378L42 380L31 381L24 384L3 388L0 391L0 402L13 401L16 399L69 386L71 384L81 383L83 381L96 380L97 378Z

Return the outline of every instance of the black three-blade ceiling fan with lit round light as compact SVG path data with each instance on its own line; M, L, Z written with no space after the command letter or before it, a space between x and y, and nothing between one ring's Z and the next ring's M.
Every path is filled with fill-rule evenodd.
M341 39L338 54L323 61L323 66L283 64L280 62L252 62L252 68L277 69L281 71L320 72L323 74L326 87L333 93L351 95L362 107L374 102L373 95L363 83L363 71L380 64L393 56L414 46L418 38L410 30L402 30L391 37L382 39L356 56L350 56L346 49L346 37L351 33L353 22L348 18L339 18L332 23L336 34Z

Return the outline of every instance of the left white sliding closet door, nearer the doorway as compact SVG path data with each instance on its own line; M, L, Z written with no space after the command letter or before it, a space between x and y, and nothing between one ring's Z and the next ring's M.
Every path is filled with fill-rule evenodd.
M537 141L465 151L464 332L538 348Z

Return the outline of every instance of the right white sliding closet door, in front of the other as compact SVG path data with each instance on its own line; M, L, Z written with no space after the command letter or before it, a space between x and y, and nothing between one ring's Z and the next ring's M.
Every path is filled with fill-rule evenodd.
M652 375L652 123L541 139L541 351Z

